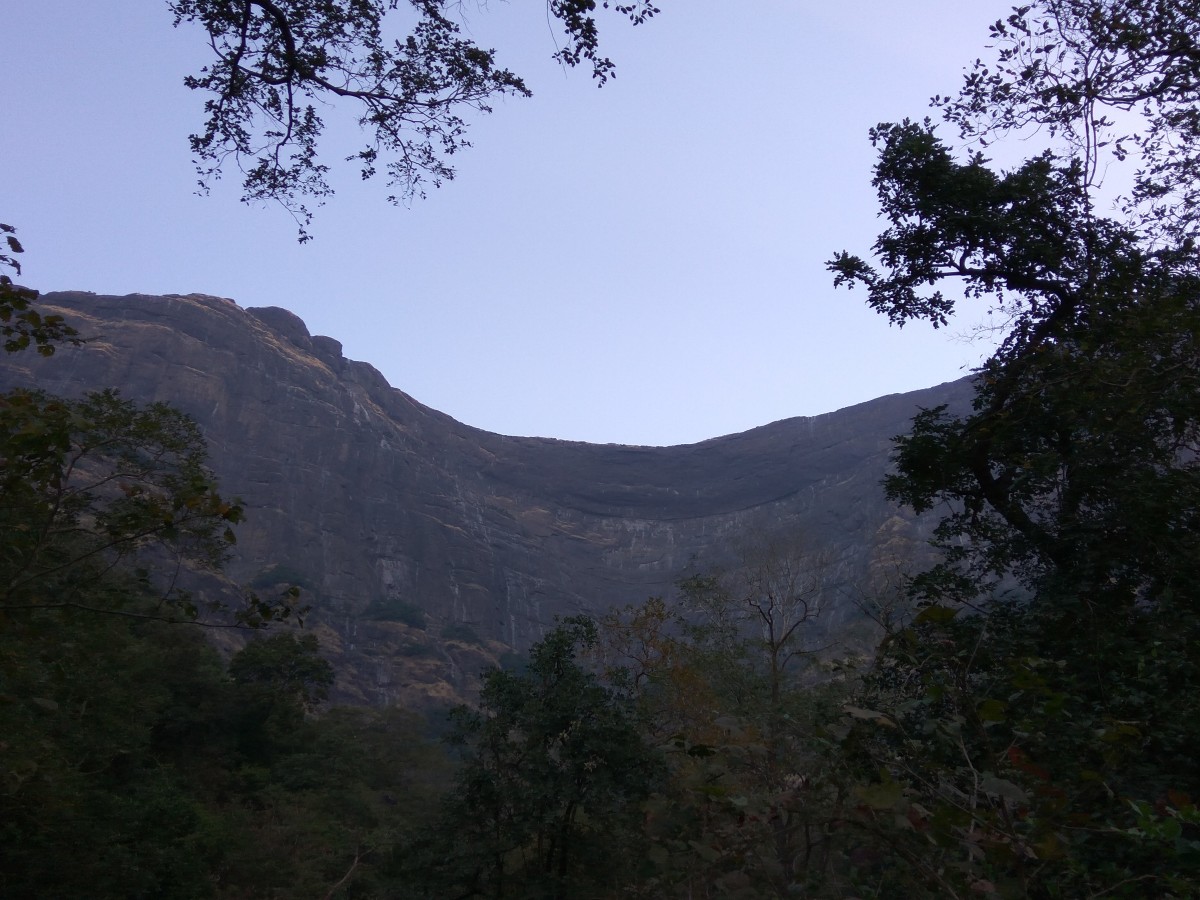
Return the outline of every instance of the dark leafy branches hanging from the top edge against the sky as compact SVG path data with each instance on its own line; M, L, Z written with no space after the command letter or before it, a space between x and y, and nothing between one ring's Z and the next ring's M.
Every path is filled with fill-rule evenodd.
M612 2L635 25L659 10L649 0ZM392 203L424 196L426 182L454 178L449 157L469 146L464 110L491 112L497 96L529 96L524 82L497 65L496 52L464 40L449 12L462 0L168 0L175 24L198 23L216 59L187 78L210 92L203 131L191 136L203 190L227 162L244 173L242 199L288 209L308 239L310 199L331 193L317 143L317 104L348 101L361 112L368 179L386 173ZM484 4L480 4L484 6ZM601 4L610 7L608 0ZM566 34L554 58L592 65L604 84L613 62L600 53L595 0L547 0L547 17ZM406 19L407 13L407 20ZM400 28L407 37L391 40Z

